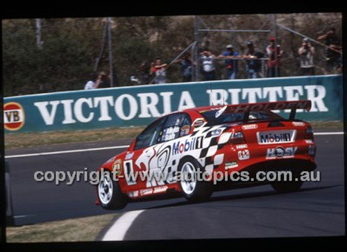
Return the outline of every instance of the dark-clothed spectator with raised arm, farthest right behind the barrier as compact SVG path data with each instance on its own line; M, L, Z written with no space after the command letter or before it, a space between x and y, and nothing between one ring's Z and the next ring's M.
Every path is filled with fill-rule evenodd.
M332 27L327 33L321 35L317 40L324 40L324 44L328 46L325 49L325 61L328 73L333 73L339 70L342 65L342 50L341 39L336 35L335 28Z

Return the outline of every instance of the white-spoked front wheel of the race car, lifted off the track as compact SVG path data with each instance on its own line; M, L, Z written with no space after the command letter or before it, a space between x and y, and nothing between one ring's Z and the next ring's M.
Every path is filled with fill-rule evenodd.
M100 205L106 210L119 210L126 207L127 197L121 192L111 173L105 172L97 187Z

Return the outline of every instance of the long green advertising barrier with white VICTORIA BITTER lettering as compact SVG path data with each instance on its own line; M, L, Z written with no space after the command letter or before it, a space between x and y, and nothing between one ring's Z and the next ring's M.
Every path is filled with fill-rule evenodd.
M201 81L12 96L4 99L6 133L148 125L186 108L264 101L312 101L307 121L343 119L341 75ZM281 112L286 115L287 112Z

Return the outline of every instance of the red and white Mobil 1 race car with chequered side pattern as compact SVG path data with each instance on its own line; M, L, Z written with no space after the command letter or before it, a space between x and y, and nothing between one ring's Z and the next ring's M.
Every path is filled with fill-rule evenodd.
M99 168L96 204L121 209L130 199L169 192L205 201L221 177L235 178L223 180L227 184L253 185L264 182L258 181L260 171L263 176L290 171L295 180L269 183L277 192L299 190L303 182L298 174L316 168L316 146L310 124L295 115L310 108L306 100L243 103L190 108L155 119L126 151ZM289 119L279 110L287 110Z

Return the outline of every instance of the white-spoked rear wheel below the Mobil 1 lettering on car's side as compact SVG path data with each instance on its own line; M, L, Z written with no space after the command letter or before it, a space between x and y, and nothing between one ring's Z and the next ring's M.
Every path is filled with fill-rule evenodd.
M204 171L203 167L194 158L183 158L178 166L181 172L180 189L188 201L207 201L213 192L212 183L198 181L197 171Z

